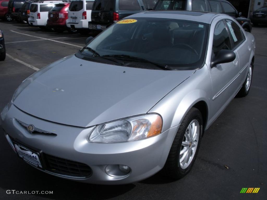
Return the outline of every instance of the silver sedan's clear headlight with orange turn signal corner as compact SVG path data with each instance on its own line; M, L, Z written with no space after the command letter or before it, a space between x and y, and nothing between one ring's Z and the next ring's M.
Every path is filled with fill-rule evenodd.
M138 115L97 125L88 140L101 143L127 142L158 135L161 130L162 118L159 114Z

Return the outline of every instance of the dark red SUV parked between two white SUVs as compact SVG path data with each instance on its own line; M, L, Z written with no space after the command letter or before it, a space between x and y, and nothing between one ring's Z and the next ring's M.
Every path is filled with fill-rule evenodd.
M66 19L68 19L68 9L70 3L55 4L48 12L47 26L54 29L58 33L67 30L69 33L76 33L77 30L68 28L66 26Z

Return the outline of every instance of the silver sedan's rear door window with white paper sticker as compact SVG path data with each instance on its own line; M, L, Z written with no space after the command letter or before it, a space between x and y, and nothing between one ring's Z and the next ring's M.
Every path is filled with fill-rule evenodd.
M242 43L242 41L245 39L245 36L243 35L243 32L235 22L227 19L226 23L231 35L231 39L234 43L233 47L235 48Z

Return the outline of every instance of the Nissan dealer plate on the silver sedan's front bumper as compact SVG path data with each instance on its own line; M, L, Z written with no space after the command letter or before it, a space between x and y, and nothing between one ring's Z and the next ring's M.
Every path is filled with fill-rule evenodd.
M37 152L33 152L32 150L28 149L23 145L19 145L16 143L14 145L18 153L18 156L22 158L25 162L28 162L30 165L33 165L34 167L43 168L39 154Z

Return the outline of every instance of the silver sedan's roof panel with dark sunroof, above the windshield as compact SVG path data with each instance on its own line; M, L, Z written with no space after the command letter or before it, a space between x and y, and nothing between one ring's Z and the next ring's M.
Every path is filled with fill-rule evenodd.
M144 18L165 18L165 19L181 19L195 22L203 22L210 24L212 20L218 15L225 15L220 13L200 12L200 11L174 11L174 10L159 10L159 11L145 11L136 13L126 18L144 17Z

